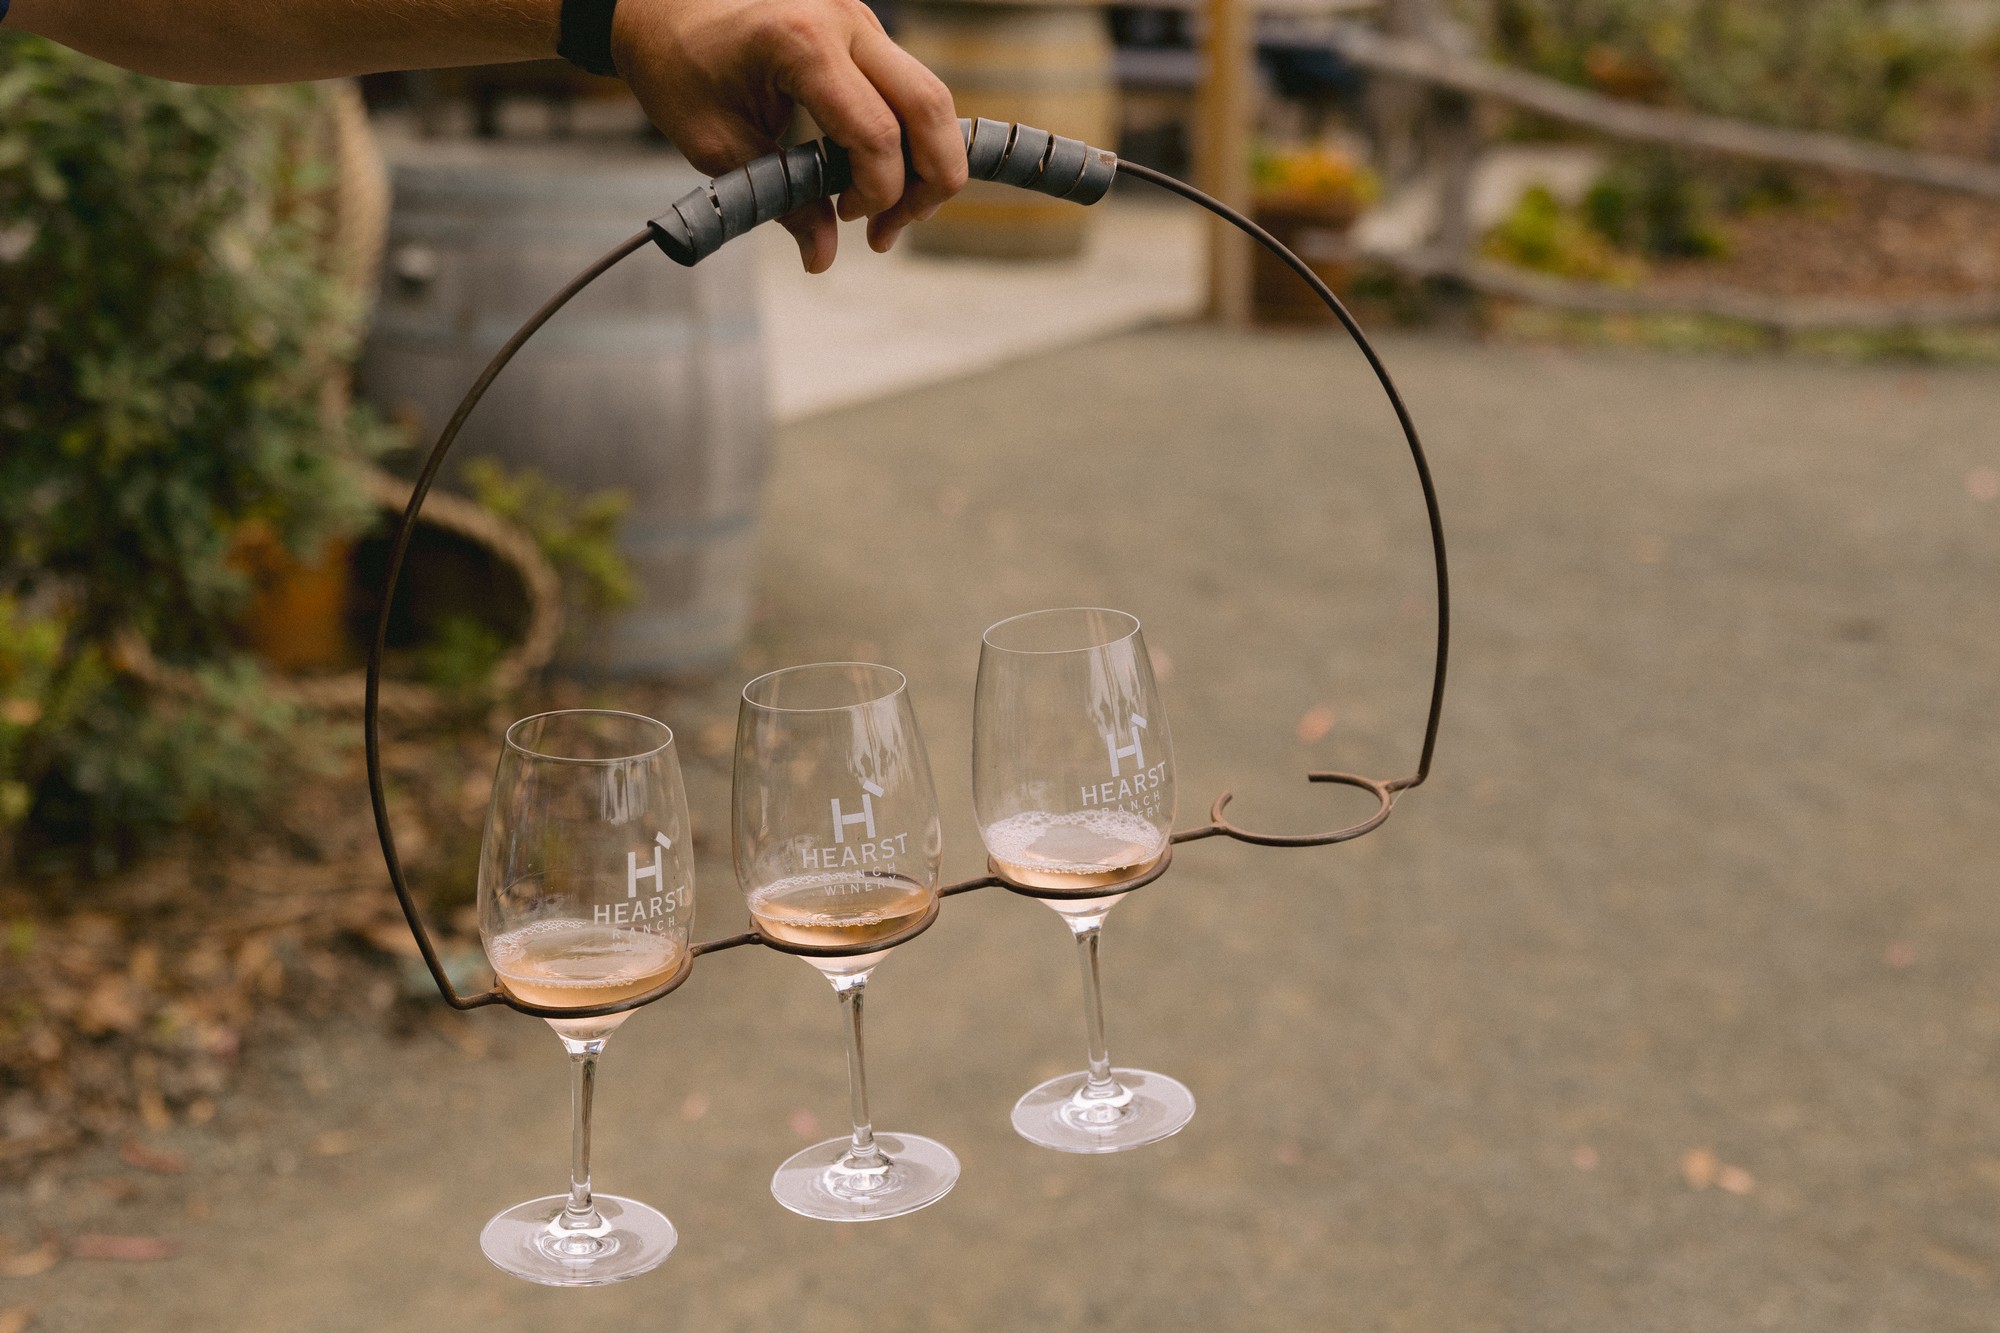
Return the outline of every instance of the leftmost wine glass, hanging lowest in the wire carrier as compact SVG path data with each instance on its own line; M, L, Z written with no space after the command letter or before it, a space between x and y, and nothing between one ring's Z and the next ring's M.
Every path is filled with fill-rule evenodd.
M588 1009L672 985L690 965L694 869L674 733L634 713L542 713L508 727L480 845L480 939L500 987ZM570 1053L570 1193L496 1215L480 1249L550 1287L658 1267L674 1223L590 1191L598 1055L628 1013L548 1019Z

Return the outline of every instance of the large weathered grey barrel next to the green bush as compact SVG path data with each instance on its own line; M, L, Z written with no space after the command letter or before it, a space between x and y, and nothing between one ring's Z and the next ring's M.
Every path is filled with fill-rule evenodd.
M426 442L528 314L700 180L642 146L392 144L390 168L360 384ZM748 624L770 456L752 252L730 246L692 270L630 256L534 336L454 448L576 494L632 498L620 546L640 600L572 636L558 658L568 669L700 671L726 660Z

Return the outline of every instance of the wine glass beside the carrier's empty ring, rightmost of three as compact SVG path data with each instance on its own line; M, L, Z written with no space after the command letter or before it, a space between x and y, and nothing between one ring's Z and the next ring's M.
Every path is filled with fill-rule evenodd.
M1084 971L1090 1067L1014 1103L1014 1129L1062 1153L1122 1153L1178 1133L1194 1095L1112 1069L1098 935L1158 871L1174 833L1174 745L1134 616L1072 606L1000 620L980 642L972 803L994 871L1062 913Z

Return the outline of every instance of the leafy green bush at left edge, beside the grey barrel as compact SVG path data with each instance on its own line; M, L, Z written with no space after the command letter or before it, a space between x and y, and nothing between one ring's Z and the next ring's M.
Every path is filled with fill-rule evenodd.
M326 94L192 88L0 36L0 839L106 871L248 813L298 721L230 642L246 522L372 520ZM120 669L138 640L198 689ZM30 833L32 831L32 837ZM4 849L4 847L0 847Z

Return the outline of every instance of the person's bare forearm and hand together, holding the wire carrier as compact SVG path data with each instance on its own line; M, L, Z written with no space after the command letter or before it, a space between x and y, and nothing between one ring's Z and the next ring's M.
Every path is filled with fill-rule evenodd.
M556 54L562 0L12 0L8 28L192 84L276 84ZM572 34L572 40L578 34ZM618 0L610 58L696 168L770 152L804 106L844 146L840 216L888 250L966 184L950 90L864 0ZM904 170L908 150L912 172ZM784 218L806 268L834 260L834 206Z

